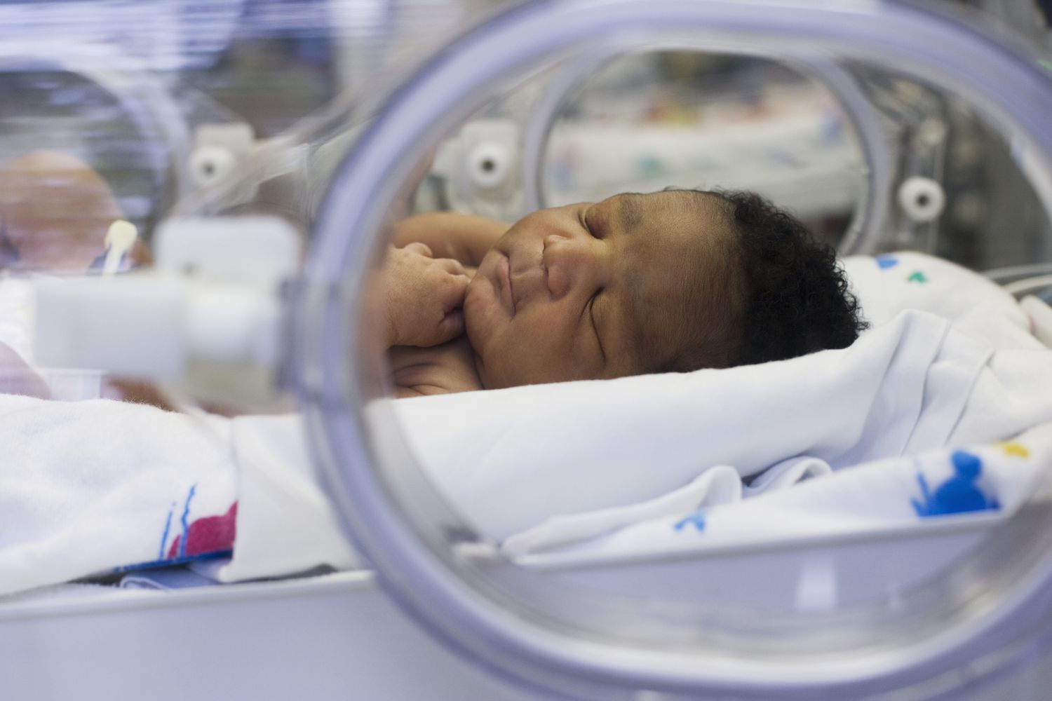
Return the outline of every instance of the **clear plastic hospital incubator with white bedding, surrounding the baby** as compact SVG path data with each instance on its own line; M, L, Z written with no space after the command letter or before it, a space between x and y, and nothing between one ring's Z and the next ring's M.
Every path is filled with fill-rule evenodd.
M4 19L5 697L1043 698L1033 36L862 0ZM791 211L869 328L393 397L406 222L667 188Z

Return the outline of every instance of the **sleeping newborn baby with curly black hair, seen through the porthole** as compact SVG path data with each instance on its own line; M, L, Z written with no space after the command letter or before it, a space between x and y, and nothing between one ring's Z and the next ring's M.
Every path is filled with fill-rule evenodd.
M398 396L764 363L865 328L833 251L749 192L618 194L510 228L424 214L394 239Z

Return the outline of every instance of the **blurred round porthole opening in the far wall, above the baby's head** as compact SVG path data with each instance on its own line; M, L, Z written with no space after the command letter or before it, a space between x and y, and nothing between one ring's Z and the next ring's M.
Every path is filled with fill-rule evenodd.
M656 42L654 42L656 44ZM851 71L655 46L559 71L527 123L526 209L668 187L756 191L843 254L871 252L893 177Z

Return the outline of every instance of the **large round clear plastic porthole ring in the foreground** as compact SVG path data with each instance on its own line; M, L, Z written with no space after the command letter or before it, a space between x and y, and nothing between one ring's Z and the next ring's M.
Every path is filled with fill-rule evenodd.
M365 279L386 210L416 156L523 67L575 45L602 45L610 37L626 46L655 34L691 30L691 39L681 41L700 48L748 53L748 46L764 44L793 55L817 47L955 90L1012 135L1020 168L1052 211L1049 77L1023 47L999 43L956 15L870 2L844 3L836 11L823 3L719 0L547 1L518 7L451 45L396 94L341 167L322 206L307 283L297 301L299 384L319 461L337 488L348 531L388 593L421 624L486 666L564 693L861 695L926 683L954 667L973 673L1002 667L1048 628L1049 480L974 556L887 606L760 624L751 639L731 621L703 615L709 624L728 625L726 636L695 627L692 638L689 631L659 626L647 644L646 638L631 640L628 626L654 621L629 620L632 612L620 610L621 630L611 630L603 618L609 611L582 598L572 600L576 616L567 620L544 607L554 600L549 597L565 592L489 557L494 551L413 477L416 459L390 408L377 401L356 373L364 324L358 290L344 281ZM971 63L962 64L962 56ZM358 358L349 368L348 356ZM477 566L469 570L466 563ZM655 644L662 635L664 651ZM772 638L804 652L778 654ZM768 641L766 653L743 645L761 640ZM699 642L708 645L690 645ZM677 644L687 646L671 650Z

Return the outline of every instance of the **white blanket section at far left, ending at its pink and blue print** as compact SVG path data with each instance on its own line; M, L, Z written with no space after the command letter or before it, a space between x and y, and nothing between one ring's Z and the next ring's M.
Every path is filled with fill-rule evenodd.
M0 593L229 554L227 419L0 395Z

